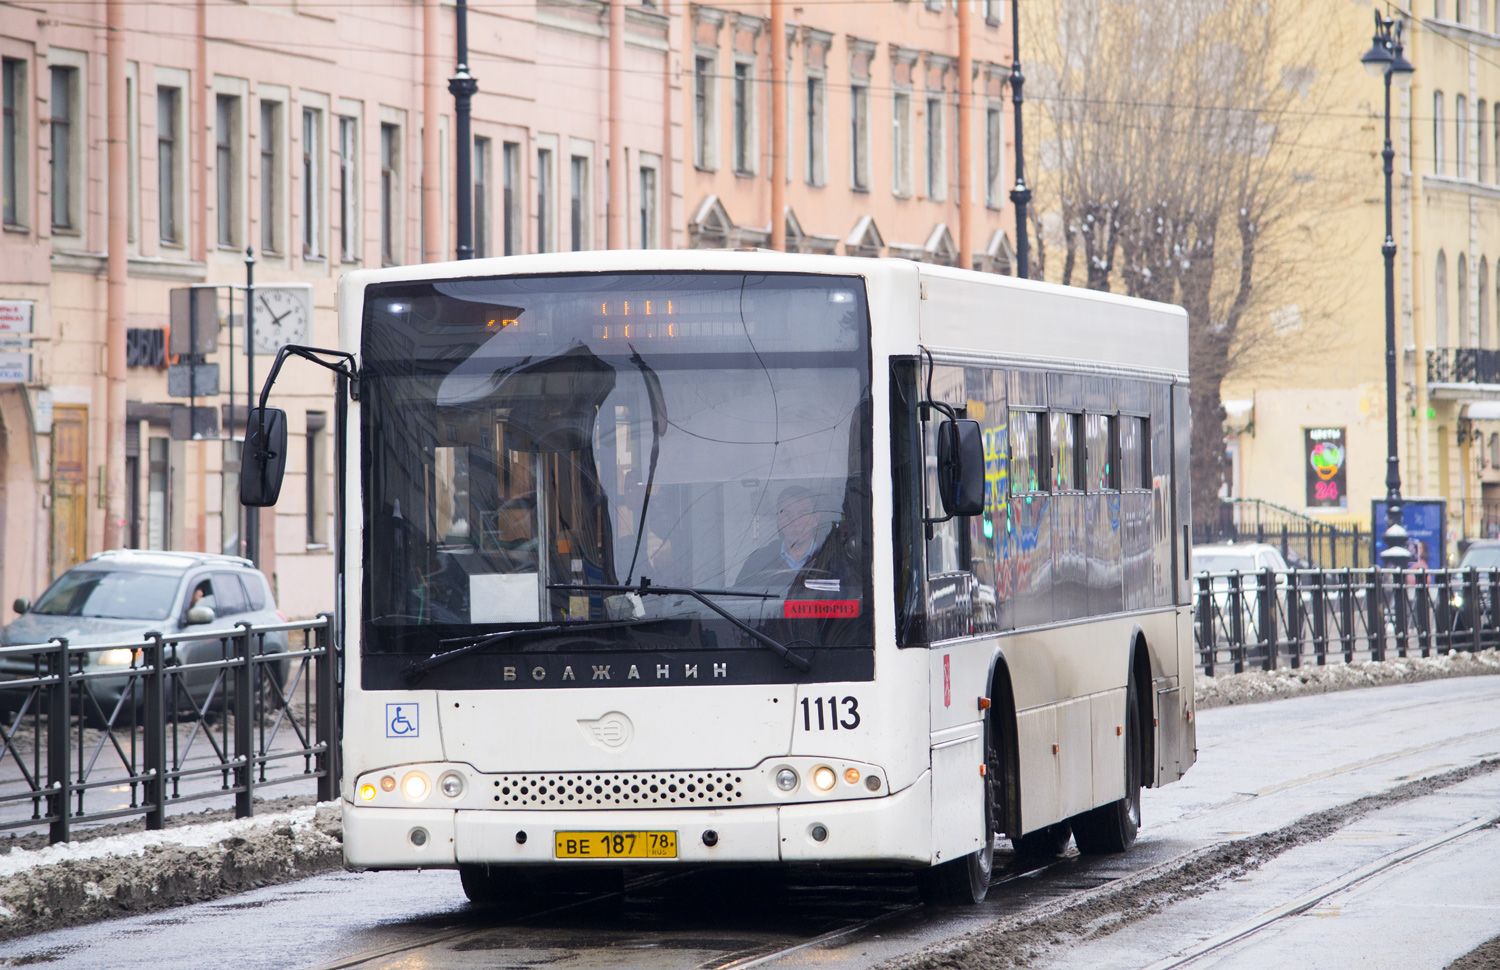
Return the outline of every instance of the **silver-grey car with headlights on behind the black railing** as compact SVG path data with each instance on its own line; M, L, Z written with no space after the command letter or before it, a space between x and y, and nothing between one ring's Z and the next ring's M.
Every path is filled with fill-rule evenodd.
M264 625L286 621L276 609L266 576L249 559L130 549L102 552L80 562L58 576L34 604L20 598L14 609L20 618L0 633L0 646L40 645L52 637L68 637L70 646L124 643L142 640L153 631L166 637L196 637L206 633L234 633L244 622ZM260 646L261 640L264 648ZM255 649L285 654L286 634L256 637ZM102 672L128 669L135 660L135 651L117 648L93 651L84 657L84 672ZM195 664L232 657L234 646L230 640L201 639L171 649L166 663ZM285 660L264 664L262 669L274 684L286 682ZM0 657L0 708L15 711L27 696L24 690L6 691L3 682L34 676L36 670L34 655ZM230 679L220 679L219 670L188 670L172 678L174 690L168 703L188 708L190 699L192 705L202 708L216 682L218 696L222 697ZM106 720L130 690L130 681L129 675L88 681L99 709L93 709L86 700L84 715L93 721ZM180 691L176 690L177 684ZM273 699L278 696L268 684L256 684L256 688ZM140 696L140 687L135 696Z

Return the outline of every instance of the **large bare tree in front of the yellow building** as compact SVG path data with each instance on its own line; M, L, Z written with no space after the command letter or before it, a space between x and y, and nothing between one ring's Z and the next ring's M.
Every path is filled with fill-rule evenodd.
M1328 204L1299 169L1323 34L1298 0L1052 0L1050 12L1032 69L1038 208L1060 216L1064 283L1188 310L1192 502L1209 517L1228 471L1222 384L1286 354L1272 310L1288 294L1306 301L1326 265L1298 225Z

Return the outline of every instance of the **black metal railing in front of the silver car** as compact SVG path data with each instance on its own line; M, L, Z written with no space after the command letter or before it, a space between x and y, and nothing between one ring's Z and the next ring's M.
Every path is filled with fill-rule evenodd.
M226 796L243 819L258 792L294 783L334 798L332 633L324 613L231 634L0 648L0 831L45 825L60 843L80 823L160 829L170 810Z

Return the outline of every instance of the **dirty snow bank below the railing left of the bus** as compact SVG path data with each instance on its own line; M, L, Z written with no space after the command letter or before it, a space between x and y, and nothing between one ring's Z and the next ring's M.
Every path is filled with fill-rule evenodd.
M0 856L0 939L201 903L344 867L338 802Z

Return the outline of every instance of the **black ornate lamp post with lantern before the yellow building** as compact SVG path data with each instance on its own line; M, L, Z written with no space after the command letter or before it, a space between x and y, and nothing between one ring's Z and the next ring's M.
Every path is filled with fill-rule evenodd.
M1400 570L1412 559L1412 552L1401 522L1401 463L1396 459L1396 241L1390 228L1390 174L1396 153L1390 145L1390 81L1410 84L1413 70L1401 55L1401 21L1383 18L1376 10L1374 42L1359 61L1371 75L1383 78L1386 87L1386 144L1380 153L1386 171L1386 241L1380 246L1386 259L1386 532L1380 562Z

